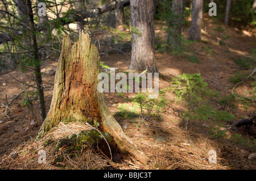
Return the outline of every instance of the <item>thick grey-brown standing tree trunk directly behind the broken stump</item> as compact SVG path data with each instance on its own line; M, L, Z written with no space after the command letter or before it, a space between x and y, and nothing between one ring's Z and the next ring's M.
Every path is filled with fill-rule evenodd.
M131 26L141 31L141 35L132 35L130 69L158 72L155 63L153 2L131 0L130 6Z

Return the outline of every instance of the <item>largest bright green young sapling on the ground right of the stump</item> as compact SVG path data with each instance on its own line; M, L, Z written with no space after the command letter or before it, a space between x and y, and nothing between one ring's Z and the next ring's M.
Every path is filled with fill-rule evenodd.
M200 74L177 75L171 82L171 90L176 95L176 102L183 101L188 111L183 113L186 120L230 121L234 115L226 111L218 111L209 106L208 99L219 96L219 93L208 89L208 85ZM208 99L207 99L208 98Z

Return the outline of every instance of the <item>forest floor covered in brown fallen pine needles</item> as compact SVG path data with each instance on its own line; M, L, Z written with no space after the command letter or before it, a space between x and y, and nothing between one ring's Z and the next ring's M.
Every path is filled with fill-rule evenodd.
M160 29L162 24L155 22L156 40L163 40L164 33ZM220 28L221 27L221 28ZM225 29L223 29L225 28ZM203 35L201 42L187 45L187 54L192 54L199 64L188 60L185 54L159 53L156 49L156 65L160 73L159 88L170 87L172 78L183 73L200 73L210 89L229 95L234 83L230 77L243 73L249 75L253 70L241 69L235 60L239 58L251 58L251 50L256 49L256 38L253 33L237 30L224 26L217 20L204 17ZM217 31L216 31L217 30ZM184 37L188 37L189 28L184 28ZM225 41L220 45L220 41ZM104 47L104 44L101 45ZM121 71L129 71L131 54L108 53L102 54L101 61L112 68ZM197 57L197 58L195 58ZM54 73L56 61L47 60L43 65L44 85L47 111L51 104ZM48 66L52 65L52 66ZM0 103L6 104L19 94L22 86L14 78L28 85L32 84L28 75L20 71L0 75ZM23 88L26 85L23 84ZM246 95L251 90L249 79L235 90L238 94ZM29 89L31 90L31 89ZM26 92L28 94L28 90ZM40 121L37 103L33 102L33 111L28 107L22 107L24 92L9 106L9 117L5 116L5 107L0 108L0 169L256 169L256 160L249 159L249 155L255 153L255 128L251 132L241 127L237 130L228 129L226 136L209 135L212 125L207 121L189 121L188 129L184 127L182 114L186 107L181 103L174 102L174 94L166 94L170 101L163 108L161 116L149 116L147 120L139 117L118 115L123 105L133 104L126 98L131 98L135 93L105 93L106 104L111 113L117 119L123 130L150 159L146 165L133 159L123 159L122 163L110 162L97 149L87 149L82 152L64 154L54 151L53 144L45 144L47 138L68 136L86 128L81 123L61 123L54 128L47 138L34 142ZM31 95L32 96L32 95ZM247 117L247 113L255 111L255 104L241 104L235 102L236 108L223 107L217 101L212 102L218 110L233 113L236 119L222 124L222 130L228 128L236 121ZM87 128L88 129L88 128ZM46 150L47 161L45 164L38 163L39 150ZM209 163L209 151L216 150L217 163Z

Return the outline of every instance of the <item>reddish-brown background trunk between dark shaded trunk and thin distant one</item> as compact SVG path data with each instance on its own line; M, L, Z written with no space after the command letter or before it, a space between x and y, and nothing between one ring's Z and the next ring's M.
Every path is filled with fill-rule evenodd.
M201 28L203 19L203 0L193 0L192 21L189 40L201 41Z

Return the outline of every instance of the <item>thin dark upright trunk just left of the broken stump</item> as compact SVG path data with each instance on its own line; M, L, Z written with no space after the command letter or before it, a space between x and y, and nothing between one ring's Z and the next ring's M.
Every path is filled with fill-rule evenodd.
M31 6L31 1L26 1L27 11L28 11L28 17L29 17L29 23L30 23L30 33L31 33L31 39L32 39L32 49L34 53L34 58L36 61L35 66L35 82L36 82L36 89L38 91L38 102L39 102L39 115L40 119L43 121L46 118L46 105L44 103L44 90L43 90L43 84L42 84L42 75L41 75L41 68L40 68L40 58L38 53L38 43L36 41L36 30L35 30L35 23L34 23L34 17L33 17L33 11Z

